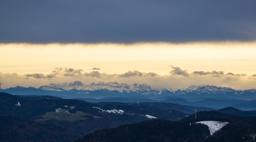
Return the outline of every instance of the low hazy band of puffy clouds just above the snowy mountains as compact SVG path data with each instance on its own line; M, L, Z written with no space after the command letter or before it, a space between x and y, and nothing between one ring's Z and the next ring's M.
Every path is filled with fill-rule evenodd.
M0 80L4 85L2 88L15 86L33 86L39 87L50 83L73 82L76 80L84 84L92 82L118 82L126 84L148 84L154 89L171 88L183 89L189 85L215 85L232 87L234 89L252 89L255 88L256 75L234 74L224 71L193 71L171 66L172 69L168 75L158 75L154 72L127 71L122 74L107 74L92 70L85 72L81 69L55 68L48 74L17 74L0 72Z

